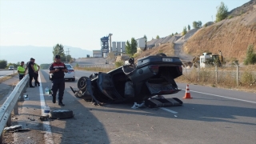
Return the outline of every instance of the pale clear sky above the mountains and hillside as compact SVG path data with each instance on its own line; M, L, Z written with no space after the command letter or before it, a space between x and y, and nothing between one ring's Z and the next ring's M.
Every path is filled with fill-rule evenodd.
M0 0L0 46L66 46L99 50L100 38L148 40L215 20L216 6L249 0Z

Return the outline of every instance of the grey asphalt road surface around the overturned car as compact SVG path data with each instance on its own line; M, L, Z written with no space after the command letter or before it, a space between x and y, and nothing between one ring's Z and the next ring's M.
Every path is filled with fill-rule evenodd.
M78 78L89 75L90 72L77 70L76 82ZM46 71L41 71L40 78L42 88L27 90L31 94L30 100L23 103L20 115L40 115L36 111L34 114L33 109L30 109L40 109L38 98L42 95L42 90L50 86ZM94 106L90 102L75 98L70 86L77 87L76 82L66 82L63 99L66 106L62 107L73 110L74 118L50 121L52 137L45 136L45 139L52 139L54 143L256 142L256 94L190 85L191 99L182 98L184 90L165 96L180 98L183 106L134 110L131 109L133 103ZM178 86L186 89L186 84L178 83ZM61 109L58 104L51 102L50 96L45 95L44 98L51 110ZM30 128L43 130L40 128L42 125L32 125L27 118L18 118L18 121L26 123ZM27 137L16 134L15 138ZM38 137L34 141L47 143Z

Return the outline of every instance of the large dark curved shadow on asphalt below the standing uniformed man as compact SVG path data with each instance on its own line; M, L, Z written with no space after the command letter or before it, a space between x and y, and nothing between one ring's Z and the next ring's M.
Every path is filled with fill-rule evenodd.
M46 86L50 86L49 75L46 71L41 70L42 90ZM69 83L69 82L68 82ZM45 96L46 104L50 106L50 110L72 110L74 118L69 119L53 119L50 121L51 131L54 143L110 143L108 134L101 122L94 117L86 106L79 102L80 99L75 98L67 90L64 92L63 102L66 106L58 106L58 102L52 103L52 97ZM69 90L70 91L70 90ZM57 96L58 99L58 96ZM23 107L36 107L33 105L24 105Z

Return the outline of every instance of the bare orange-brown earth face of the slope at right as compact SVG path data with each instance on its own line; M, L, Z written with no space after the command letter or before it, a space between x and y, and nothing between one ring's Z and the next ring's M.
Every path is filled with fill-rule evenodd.
M217 54L218 50L222 50L226 60L237 58L242 62L250 44L256 44L256 10L198 30L184 44L183 50L194 56L203 52Z

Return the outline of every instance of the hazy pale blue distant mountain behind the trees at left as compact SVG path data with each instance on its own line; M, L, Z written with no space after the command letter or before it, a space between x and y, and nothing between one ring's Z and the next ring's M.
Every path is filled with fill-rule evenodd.
M34 58L38 64L53 62L54 46L0 46L0 60L5 59L8 63L27 62ZM64 50L70 48L72 58L86 58L86 54L92 56L90 50L82 50L78 47L64 46Z

